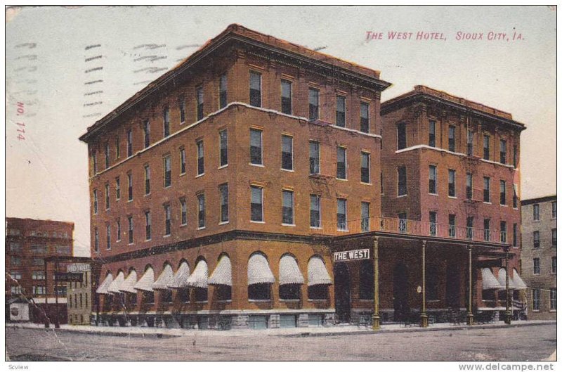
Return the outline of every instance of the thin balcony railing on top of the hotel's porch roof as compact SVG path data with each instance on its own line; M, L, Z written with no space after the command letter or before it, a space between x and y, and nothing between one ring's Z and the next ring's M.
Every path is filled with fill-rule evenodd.
M498 230L477 229L476 227L436 224L433 222L391 217L368 217L347 220L345 223L336 223L334 221L332 224L322 221L320 229L311 229L311 232L315 234L334 236L352 235L370 231L427 236L430 238L472 240L487 243L506 243L507 240L507 237L504 236L505 233Z

